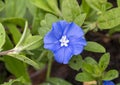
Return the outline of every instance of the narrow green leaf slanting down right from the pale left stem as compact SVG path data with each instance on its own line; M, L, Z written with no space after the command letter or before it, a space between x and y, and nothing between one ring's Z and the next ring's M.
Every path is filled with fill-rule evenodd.
M28 57L24 56L24 55L18 55L18 54L8 54L9 56L13 57L13 58L16 58L20 61L23 61L33 67L35 67L36 69L40 69L40 66L34 62L33 60L29 59Z

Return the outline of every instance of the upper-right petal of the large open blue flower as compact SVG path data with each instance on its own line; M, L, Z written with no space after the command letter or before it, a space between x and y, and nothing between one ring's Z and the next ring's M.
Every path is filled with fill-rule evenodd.
M78 25L72 22L64 30L64 35L67 35L68 38L69 37L79 38L84 35L84 32Z

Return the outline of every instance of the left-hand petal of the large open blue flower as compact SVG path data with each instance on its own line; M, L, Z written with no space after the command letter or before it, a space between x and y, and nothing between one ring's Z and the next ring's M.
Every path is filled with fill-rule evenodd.
M58 42L57 38L55 37L54 33L52 32L52 30L50 32L48 32L46 34L46 36L44 37L44 44L50 44L50 43L56 43Z

